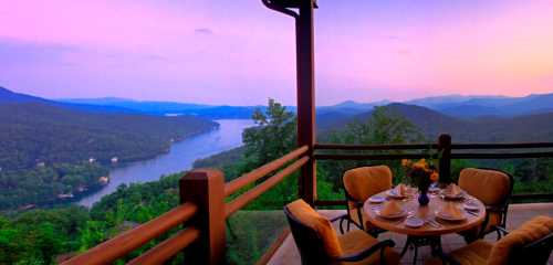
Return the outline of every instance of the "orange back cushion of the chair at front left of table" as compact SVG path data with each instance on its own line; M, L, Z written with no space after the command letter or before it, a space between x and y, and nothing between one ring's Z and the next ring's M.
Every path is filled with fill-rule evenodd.
M331 221L319 214L313 208L303 200L296 200L286 205L290 213L301 223L315 231L323 241L326 254L330 257L342 255L338 237Z

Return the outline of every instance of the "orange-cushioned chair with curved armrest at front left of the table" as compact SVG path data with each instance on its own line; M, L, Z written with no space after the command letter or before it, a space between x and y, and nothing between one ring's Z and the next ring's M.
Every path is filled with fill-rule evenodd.
M338 236L331 221L303 200L284 206L284 213L304 265L399 263L393 241L378 242L361 230Z

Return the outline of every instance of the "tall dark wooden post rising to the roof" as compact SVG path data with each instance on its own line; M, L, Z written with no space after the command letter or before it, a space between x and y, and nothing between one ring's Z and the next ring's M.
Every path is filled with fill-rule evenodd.
M296 19L296 68L298 68L298 145L307 146L309 162L302 168L300 195L314 205L316 200L316 165L313 159L315 145L315 77L313 0L300 0Z

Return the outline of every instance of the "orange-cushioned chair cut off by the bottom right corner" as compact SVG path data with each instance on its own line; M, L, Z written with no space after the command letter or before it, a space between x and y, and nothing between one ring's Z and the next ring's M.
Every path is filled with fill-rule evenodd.
M501 229L502 230L502 229ZM478 240L440 258L426 261L426 265L518 265L547 264L553 248L553 218L536 216L522 224L495 243Z

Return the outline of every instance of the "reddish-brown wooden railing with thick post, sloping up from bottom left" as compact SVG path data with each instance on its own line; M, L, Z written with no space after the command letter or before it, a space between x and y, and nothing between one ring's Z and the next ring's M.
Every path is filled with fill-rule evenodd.
M62 264L111 264L181 226L185 229L132 259L129 264L163 264L185 248L189 250L186 255L189 264L222 264L226 219L301 169L310 160L307 151L306 146L300 147L228 183L225 183L225 177L218 170L190 171L179 182L180 205ZM257 186L232 201L225 202L227 197L252 183Z

